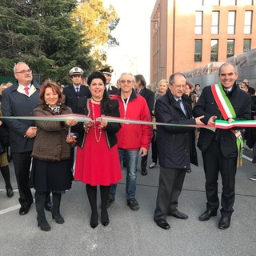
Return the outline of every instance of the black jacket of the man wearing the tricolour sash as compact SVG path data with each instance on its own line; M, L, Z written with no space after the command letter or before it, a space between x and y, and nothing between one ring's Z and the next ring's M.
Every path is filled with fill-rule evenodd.
M228 95L234 111L236 114L235 120L250 120L250 94L238 88L234 85L230 95ZM198 102L193 109L194 117L204 115L202 122L208 123L208 120L213 115L216 115L218 119L223 119L220 110L218 109L217 103L214 100L214 95L211 92L210 86L206 86L202 90L202 94L198 99ZM212 140L220 141L220 147L222 154L225 158L235 158L238 156L238 149L236 145L235 135L231 130L216 129L212 131L209 129L201 128L198 139L198 148L204 152Z

